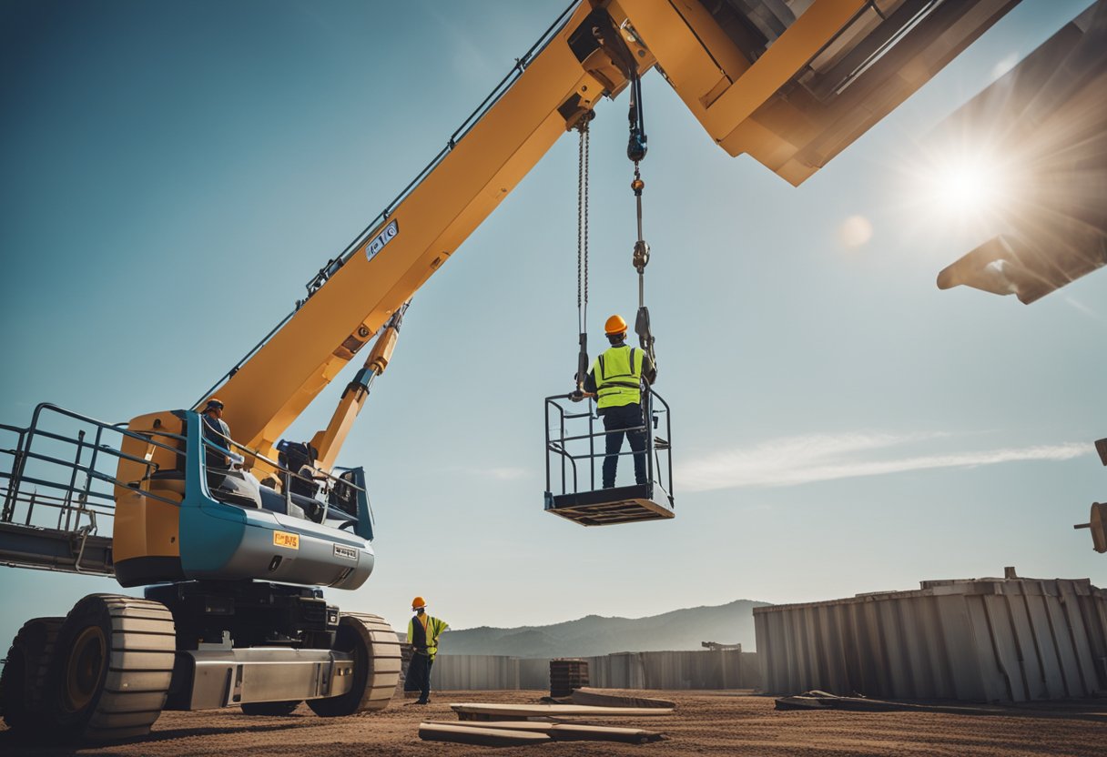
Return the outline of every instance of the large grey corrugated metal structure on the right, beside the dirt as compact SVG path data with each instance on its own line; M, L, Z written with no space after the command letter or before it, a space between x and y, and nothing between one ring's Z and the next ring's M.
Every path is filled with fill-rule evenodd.
M921 587L756 608L765 691L974 702L1107 691L1107 591L1087 579Z

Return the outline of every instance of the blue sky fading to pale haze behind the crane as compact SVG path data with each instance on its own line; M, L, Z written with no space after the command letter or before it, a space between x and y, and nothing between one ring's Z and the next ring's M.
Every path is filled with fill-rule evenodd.
M562 8L0 3L0 421L44 401L107 421L190 405ZM1004 566L1107 583L1072 529L1107 488L1092 446L1107 435L1107 274L1030 307L939 291L938 271L995 231L931 201L920 168L934 125L1083 8L1022 3L799 188L728 157L645 77L673 521L583 529L541 509L541 402L571 388L577 351L562 138L415 297L341 460L369 474L377 568L332 601L399 626L422 594L468 628ZM592 131L593 345L637 305L624 108L602 104ZM321 427L349 378L288 436ZM21 610L0 636L114 585L0 568Z

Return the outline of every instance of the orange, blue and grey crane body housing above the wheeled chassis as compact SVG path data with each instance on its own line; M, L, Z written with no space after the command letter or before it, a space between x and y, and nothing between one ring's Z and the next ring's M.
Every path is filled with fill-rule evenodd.
M268 462L283 483L278 490L249 470L214 463L231 450L206 438L201 424L197 413L174 411L128 426L115 480L122 585L215 579L356 589L365 582L373 527L360 468L292 486L299 474ZM304 494L319 488L322 498Z

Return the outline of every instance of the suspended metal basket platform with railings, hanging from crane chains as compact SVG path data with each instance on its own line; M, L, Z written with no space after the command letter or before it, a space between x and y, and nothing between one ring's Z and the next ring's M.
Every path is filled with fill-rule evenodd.
M674 517L669 405L655 392L643 393L646 483L604 489L607 432L592 400L546 397L546 511L581 526L612 526ZM634 450L627 439L618 453L618 476L634 479ZM615 479L615 484L619 483Z

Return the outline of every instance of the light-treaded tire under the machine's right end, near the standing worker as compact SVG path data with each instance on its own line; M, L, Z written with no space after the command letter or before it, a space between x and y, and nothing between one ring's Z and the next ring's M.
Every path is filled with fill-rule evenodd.
M400 680L400 639L379 615L344 612L334 649L353 655L353 687L340 696L308 699L315 715L340 717L384 709Z

